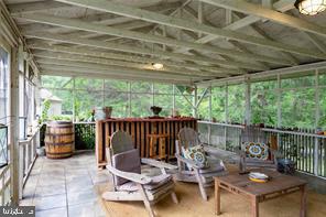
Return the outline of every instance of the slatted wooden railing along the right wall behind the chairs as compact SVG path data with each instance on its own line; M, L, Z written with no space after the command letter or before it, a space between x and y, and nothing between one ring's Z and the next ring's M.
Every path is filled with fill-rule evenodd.
M203 142L227 151L239 149L243 126L198 121ZM297 171L326 177L326 135L312 129L262 128L268 134L278 137L279 150L284 158L296 163Z

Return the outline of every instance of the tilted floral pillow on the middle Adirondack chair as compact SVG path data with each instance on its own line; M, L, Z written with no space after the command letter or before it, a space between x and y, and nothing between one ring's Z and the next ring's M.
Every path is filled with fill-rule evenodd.
M200 167L209 167L204 147L200 144L186 149L184 158L195 161Z

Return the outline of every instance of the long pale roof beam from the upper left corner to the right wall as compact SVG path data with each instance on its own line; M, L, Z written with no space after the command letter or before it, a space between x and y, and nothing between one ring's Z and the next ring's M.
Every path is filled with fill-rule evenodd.
M181 40L173 40L173 39L164 37L161 35L144 34L141 32L122 30L122 29L117 29L112 26L104 26L101 24L84 22L76 19L57 18L57 17L42 15L42 14L20 14L17 18L22 18L33 22L52 24L52 25L57 25L62 28L70 28L75 30L83 30L83 31L88 31L88 32L94 32L99 34L115 35L119 37L128 37L133 40L151 42L151 43L160 43L160 44L165 44L165 45L171 45L176 47L183 46L183 47L189 47L189 48L204 51L204 52L237 56L238 58L244 59L244 61L257 59L257 61L263 61L269 63L276 63L281 65L291 65L284 58L274 58L274 57L268 57L262 55L248 54L246 52L239 52L235 50L214 47L209 45L200 45L197 43L192 43L192 42L186 42Z

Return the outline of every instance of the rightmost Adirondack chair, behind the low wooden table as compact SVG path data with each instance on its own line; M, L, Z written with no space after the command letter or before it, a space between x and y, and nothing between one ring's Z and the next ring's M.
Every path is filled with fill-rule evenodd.
M240 135L240 163L239 167L241 172L246 172L247 167L265 167L265 169L278 169L278 158L281 156L280 152L276 150L271 149L270 145L270 138L264 133L260 128L247 126L244 130L242 130ZM268 159L257 159L250 156L248 150L246 150L247 143L263 143L265 144Z

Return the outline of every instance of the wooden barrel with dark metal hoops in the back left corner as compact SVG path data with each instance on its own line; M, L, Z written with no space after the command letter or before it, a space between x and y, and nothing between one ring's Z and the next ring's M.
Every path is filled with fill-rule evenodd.
M72 156L75 144L74 126L70 121L52 121L46 124L45 152L48 159Z

